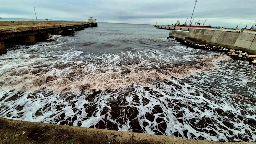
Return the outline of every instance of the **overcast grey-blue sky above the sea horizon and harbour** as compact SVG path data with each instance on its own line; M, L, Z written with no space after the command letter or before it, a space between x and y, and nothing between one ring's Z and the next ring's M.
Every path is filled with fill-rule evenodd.
M190 21L195 0L1 0L0 17L134 24L183 24ZM256 0L198 0L195 22L244 28L256 21ZM172 22L173 21L173 22ZM220 24L221 22L221 24ZM254 24L255 25L255 24ZM248 25L251 27L252 23Z

